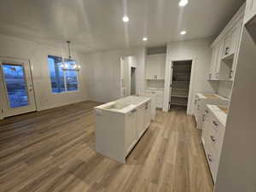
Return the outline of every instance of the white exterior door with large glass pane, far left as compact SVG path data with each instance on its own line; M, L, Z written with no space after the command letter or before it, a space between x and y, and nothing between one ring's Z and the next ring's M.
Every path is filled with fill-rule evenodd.
M29 61L0 58L3 117L36 111Z

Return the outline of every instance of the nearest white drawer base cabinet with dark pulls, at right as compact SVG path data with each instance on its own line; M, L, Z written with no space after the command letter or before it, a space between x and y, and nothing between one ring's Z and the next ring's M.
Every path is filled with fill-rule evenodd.
M215 183L218 173L218 164L224 139L224 124L217 118L216 113L221 113L214 105L207 105L205 120L203 122L201 140L205 149L207 162Z

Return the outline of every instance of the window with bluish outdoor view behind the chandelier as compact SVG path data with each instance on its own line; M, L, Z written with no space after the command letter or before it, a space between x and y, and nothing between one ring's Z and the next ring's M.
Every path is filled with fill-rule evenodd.
M53 93L79 90L76 61L48 55L48 65Z

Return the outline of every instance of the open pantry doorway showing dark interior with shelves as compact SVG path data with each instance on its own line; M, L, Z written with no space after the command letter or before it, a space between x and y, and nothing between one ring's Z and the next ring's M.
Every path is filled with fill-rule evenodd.
M169 110L187 109L192 60L172 61Z

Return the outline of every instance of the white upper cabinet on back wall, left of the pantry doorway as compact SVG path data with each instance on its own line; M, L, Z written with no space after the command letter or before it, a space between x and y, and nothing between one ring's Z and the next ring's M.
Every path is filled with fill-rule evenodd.
M146 79L165 79L166 54L146 57Z

